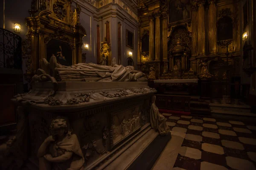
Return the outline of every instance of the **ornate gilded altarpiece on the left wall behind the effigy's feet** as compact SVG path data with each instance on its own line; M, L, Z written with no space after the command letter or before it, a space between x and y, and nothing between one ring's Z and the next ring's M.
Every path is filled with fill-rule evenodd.
M68 58L70 65L82 62L82 38L86 35L85 29L80 25L79 15L81 8L73 0L33 0L29 13L31 17L26 18L28 27L27 39L23 42L23 59L26 59L25 79L31 80L43 58L48 55L58 55L63 48L68 47ZM58 48L49 54L47 43L57 40ZM63 47L61 43L65 44ZM49 45L48 45L49 46ZM48 50L48 53L47 53Z

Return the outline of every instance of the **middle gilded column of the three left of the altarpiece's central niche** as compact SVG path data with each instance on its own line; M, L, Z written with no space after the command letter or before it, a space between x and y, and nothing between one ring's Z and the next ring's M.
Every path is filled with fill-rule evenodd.
M155 59L160 60L161 59L161 34L160 34L160 13L156 12L154 13L154 16L156 18L155 23Z

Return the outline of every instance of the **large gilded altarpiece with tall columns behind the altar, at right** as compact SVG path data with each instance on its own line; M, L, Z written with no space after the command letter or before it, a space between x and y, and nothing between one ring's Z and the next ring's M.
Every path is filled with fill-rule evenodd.
M143 4L144 6L141 6L138 10L141 40L138 44L138 49L140 49L138 52L138 67L143 72L149 73L149 68L154 66L157 79L173 79L172 70L177 65L173 51L180 51L179 55L181 57L186 54L185 60L180 59L181 79L197 78L201 71L201 59L207 61L226 59L226 49L221 48L217 43L219 21L224 17L229 17L233 23L233 33L230 32L233 34L233 42L228 48L230 53L228 60L231 65L234 65L239 58L240 37L237 34L239 33L239 25L237 24L239 3L237 1L231 3L231 1L226 0L153 0L145 1ZM160 24L158 24L159 12ZM150 46L150 44L157 46L158 25L160 25L161 30L160 61L157 60L156 55L152 57L152 54L158 54L158 48ZM184 34L186 34L185 37L187 37L186 40L189 40L189 45L183 43L184 39L176 41L177 38L172 35L178 27L186 29L186 33L180 32L177 36L184 37ZM149 50L147 53L143 52L142 49L145 30L148 30L149 35ZM176 41L176 44L173 41ZM232 59L230 56L232 56Z

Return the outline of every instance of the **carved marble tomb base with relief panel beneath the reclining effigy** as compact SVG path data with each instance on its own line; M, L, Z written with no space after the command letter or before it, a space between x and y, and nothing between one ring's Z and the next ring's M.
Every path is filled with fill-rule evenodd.
M148 162L145 153L159 155L170 139L170 135L159 136L151 130L150 98L157 91L147 82L58 82L58 90L47 98L52 89L51 82L35 82L28 94L12 99L27 115L23 118L28 123L18 130L22 137L17 139L27 148L23 152L30 162L27 167L38 166L38 148L49 136L49 124L57 116L67 117L77 135L86 160L85 170L116 166L114 162L120 161L117 158L127 154L132 154L133 159L126 161L123 168L138 167L139 160ZM81 100L81 96L88 98ZM150 140L141 147L146 139ZM160 144L159 150L154 144Z

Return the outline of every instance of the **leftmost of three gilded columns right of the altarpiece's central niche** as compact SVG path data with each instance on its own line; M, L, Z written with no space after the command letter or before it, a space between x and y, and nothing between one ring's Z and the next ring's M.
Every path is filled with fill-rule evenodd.
M196 56L198 52L198 4L195 0L191 2L192 10L192 56Z

